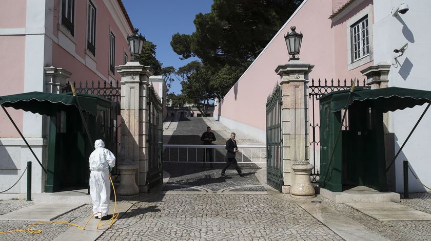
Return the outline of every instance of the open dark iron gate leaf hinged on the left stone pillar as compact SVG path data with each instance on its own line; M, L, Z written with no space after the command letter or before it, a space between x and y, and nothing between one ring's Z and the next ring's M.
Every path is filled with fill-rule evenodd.
M148 183L149 189L162 184L163 114L162 103L152 86L148 88Z

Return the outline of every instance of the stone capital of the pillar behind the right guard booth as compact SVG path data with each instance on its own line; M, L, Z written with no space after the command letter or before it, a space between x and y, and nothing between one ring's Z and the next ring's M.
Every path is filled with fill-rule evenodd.
M371 89L381 89L388 86L388 75L390 64L380 62L376 65L370 66L361 70L361 73L367 77L367 85L371 85Z

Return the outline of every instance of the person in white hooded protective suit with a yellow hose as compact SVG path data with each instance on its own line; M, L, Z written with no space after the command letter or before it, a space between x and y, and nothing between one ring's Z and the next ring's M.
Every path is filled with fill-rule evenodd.
M102 140L94 142L95 150L91 152L90 163L90 195L93 201L93 213L101 212L98 216L106 216L109 208L111 182L109 181L108 167L115 166L115 157L111 151L105 149Z

